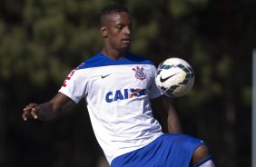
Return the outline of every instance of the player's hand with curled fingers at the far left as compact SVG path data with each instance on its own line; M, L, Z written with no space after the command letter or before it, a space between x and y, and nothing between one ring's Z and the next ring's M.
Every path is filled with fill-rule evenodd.
M30 103L25 106L23 109L24 113L22 114L22 117L24 121L26 121L28 118L38 118L38 113L40 111L40 107L37 105L37 103Z

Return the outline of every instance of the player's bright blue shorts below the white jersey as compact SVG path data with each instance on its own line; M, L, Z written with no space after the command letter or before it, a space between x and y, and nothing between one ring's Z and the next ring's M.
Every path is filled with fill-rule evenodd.
M113 159L111 167L189 167L202 140L186 134L165 133L133 152Z

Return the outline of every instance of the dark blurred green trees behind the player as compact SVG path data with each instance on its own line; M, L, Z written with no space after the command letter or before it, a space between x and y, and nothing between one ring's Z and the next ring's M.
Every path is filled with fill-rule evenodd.
M0 0L0 166L99 167L85 102L53 121L29 121L67 74L101 50L99 15L117 0ZM161 63L181 57L195 71L191 93L174 100L184 133L202 138L216 166L251 166L253 0L127 0L131 52Z

